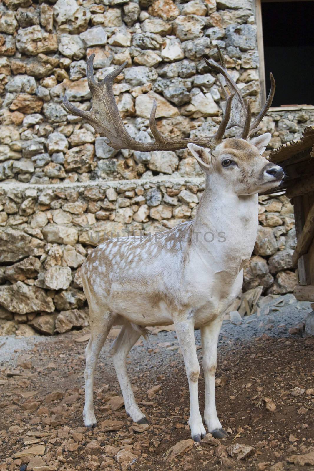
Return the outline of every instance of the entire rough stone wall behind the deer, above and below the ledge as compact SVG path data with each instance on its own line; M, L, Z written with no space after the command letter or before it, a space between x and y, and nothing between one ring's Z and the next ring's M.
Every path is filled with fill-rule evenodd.
M87 324L80 266L97 235L156 232L192 219L203 178L187 150L116 151L62 105L90 107L96 79L128 62L113 85L123 121L152 140L149 114L167 137L211 135L224 108L202 57L216 44L258 111L260 85L250 0L4 0L0 5L0 324L2 333L63 332ZM314 110L271 111L268 152L301 135ZM226 136L233 136L234 129ZM266 151L266 152L267 152ZM244 290L292 291L292 207L260 198L255 254ZM92 231L92 233L90 232ZM27 325L28 323L28 325ZM30 327L30 325L32 327Z

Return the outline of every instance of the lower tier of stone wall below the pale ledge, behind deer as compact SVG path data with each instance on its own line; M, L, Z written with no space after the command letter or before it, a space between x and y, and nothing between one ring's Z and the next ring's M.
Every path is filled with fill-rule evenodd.
M87 325L80 267L93 246L117 233L153 235L192 219L203 188L203 179L2 187L2 333L30 332L26 323L50 334ZM285 196L260 197L259 212L258 240L243 288L290 292L296 284L290 271L292 206Z

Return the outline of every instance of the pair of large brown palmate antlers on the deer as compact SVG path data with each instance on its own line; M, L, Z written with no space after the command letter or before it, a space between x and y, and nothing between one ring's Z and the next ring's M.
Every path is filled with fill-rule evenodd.
M67 99L64 97L63 103L64 106L71 111L71 113L76 114L77 116L81 116L84 118L96 132L100 135L105 136L109 139L108 145L113 147L114 149L132 149L135 151L154 151L154 150L176 150L176 149L185 149L189 143L197 144L199 146L214 148L222 141L224 136L226 127L228 125L230 116L232 115L232 123L235 122L234 116L236 113L233 111L235 108L233 106L233 97L237 97L237 102L240 103L240 107L237 105L237 108L240 109L240 118L237 121L237 125L243 127L242 136L243 138L247 138L253 131L256 130L259 122L262 120L263 116L266 114L269 106L271 105L271 101L273 99L273 95L270 99L270 104L266 108L264 106L263 110L260 112L258 117L256 118L255 122L252 126L250 126L250 104L247 104L247 107L244 105L243 98L241 96L240 90L235 85L233 79L227 73L225 67L225 60L224 57L218 48L218 52L220 55L220 60L222 66L218 65L214 61L206 61L209 67L213 70L221 73L225 77L225 81L228 85L230 90L230 95L227 95L225 88L221 85L223 93L226 99L226 106L225 106L225 114L221 123L219 124L218 130L213 136L204 137L204 138L184 138L184 139L168 139L161 135L161 133L157 130L156 125L156 101L153 102L153 109L150 115L149 123L150 129L152 131L153 137L155 138L155 142L139 142L133 139L128 131L126 130L122 118L120 116L118 106L115 101L115 97L113 95L113 81L114 79L122 72L122 70L127 65L127 62L122 64L120 67L115 69L113 72L109 73L104 80L101 82L96 82L94 79L94 68L93 68L93 61L95 54L92 54L86 66L86 75L88 80L89 89L91 95L93 97L93 105L90 111L82 111L76 106L73 106ZM272 90L271 90L272 92ZM270 93L271 95L271 93ZM269 101L269 97L267 99L266 104ZM264 112L265 109L265 112Z

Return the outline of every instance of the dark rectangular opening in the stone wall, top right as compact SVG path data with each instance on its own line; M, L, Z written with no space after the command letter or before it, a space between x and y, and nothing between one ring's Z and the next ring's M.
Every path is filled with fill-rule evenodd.
M272 106L314 105L314 2L263 1L266 93L269 73L276 93Z

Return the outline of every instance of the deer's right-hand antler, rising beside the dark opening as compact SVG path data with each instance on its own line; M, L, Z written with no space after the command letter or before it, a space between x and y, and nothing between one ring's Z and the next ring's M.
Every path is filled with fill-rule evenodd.
M269 110L272 104L274 93L275 93L275 88L276 88L273 74L272 73L270 74L271 88L270 88L270 92L267 97L266 103L263 106L260 113L258 114L258 116L256 117L256 119L254 120L254 122L251 124L249 100L247 102L247 106L245 106L240 90L236 86L236 83L233 80L233 78L228 74L227 67L225 65L225 57L223 56L221 49L219 48L218 45L217 45L217 51L219 54L219 60L220 60L221 65L217 64L217 62L215 62L212 59L211 60L205 59L205 62L211 69L215 70L217 73L221 73L221 75L225 78L225 81L226 81L226 84L230 93L233 93L235 95L235 98L233 99L233 103L231 107L231 121L228 128L231 128L233 126L239 126L240 128L243 128L242 132L239 133L237 137L247 139L248 137L252 136L252 134L255 134L257 132L259 123L262 121L262 119L264 118L265 114L267 113L267 111ZM227 99L228 94L225 90L224 85L222 85L221 81L219 80L219 77L218 77L218 81L220 84L220 88L222 89L223 95L225 99Z

